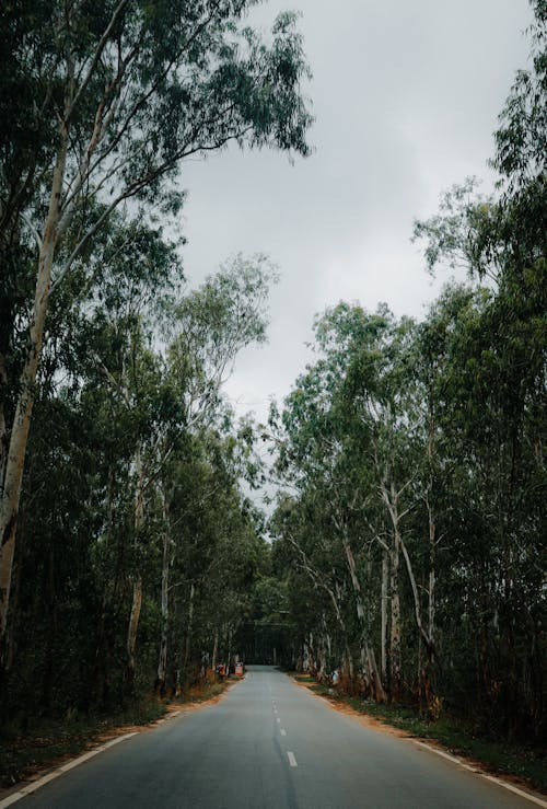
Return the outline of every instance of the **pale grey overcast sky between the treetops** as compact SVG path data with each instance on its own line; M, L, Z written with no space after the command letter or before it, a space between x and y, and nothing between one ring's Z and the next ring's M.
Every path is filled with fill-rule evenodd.
M491 187L487 160L514 71L527 62L527 0L270 0L300 30L314 78L314 154L234 149L187 164L182 229L193 285L236 252L265 252L281 281L269 344L240 358L228 393L240 413L267 413L305 367L314 314L339 300L385 301L422 317L432 285L412 221L467 175Z

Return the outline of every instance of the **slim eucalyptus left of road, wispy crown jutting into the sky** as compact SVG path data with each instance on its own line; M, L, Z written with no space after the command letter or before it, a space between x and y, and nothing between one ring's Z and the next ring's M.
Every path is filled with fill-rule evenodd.
M246 346L265 342L268 293L276 280L276 269L266 256L244 258L236 255L170 310L167 332L172 333L172 339L165 370L172 398L179 408L179 423L178 434L165 431L162 464L172 453L177 435L199 435L210 429L217 418L228 415L222 402L222 385L233 370L237 354ZM165 483L162 498L168 510L167 489L168 483ZM194 497L197 500L202 497L198 487ZM168 621L172 564L168 519L165 524L161 596L164 627ZM158 674L161 690L165 685L165 660L166 634L163 632Z

